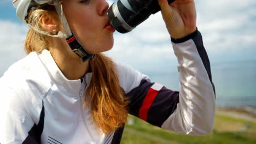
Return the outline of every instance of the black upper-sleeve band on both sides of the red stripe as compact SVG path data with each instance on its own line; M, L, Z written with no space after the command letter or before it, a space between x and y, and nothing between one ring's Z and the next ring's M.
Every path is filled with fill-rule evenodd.
M141 84L127 93L129 97L129 113L139 117L139 109L149 89L154 83L142 80ZM179 92L162 87L150 105L147 115L147 122L158 127L176 110L179 103Z

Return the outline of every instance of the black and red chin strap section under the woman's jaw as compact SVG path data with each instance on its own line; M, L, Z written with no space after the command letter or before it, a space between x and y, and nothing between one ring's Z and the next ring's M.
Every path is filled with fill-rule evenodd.
M70 37L67 39L68 45L71 47L72 51L77 54L82 61L88 61L89 59L93 58L95 55L90 54L87 52L84 47L77 41L75 36L72 34Z

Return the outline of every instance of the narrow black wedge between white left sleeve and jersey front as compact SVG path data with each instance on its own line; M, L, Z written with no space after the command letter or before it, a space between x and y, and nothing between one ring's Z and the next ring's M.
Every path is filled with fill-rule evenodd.
M44 129L44 101L42 101L43 106L40 112L40 118L38 125L34 124L30 131L28 131L28 136L22 142L22 144L39 144L41 143L41 135Z

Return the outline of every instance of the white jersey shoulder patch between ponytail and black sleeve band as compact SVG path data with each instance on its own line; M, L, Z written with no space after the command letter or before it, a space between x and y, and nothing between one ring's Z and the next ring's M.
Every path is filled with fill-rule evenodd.
M116 61L114 63L117 65L120 86L123 87L126 93L139 86L142 80L149 80L147 75L142 74L140 71L131 67L131 65Z

